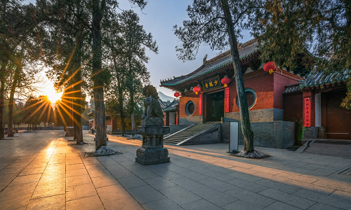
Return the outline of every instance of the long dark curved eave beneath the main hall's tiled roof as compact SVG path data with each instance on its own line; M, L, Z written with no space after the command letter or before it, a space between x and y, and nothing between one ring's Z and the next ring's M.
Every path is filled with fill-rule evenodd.
M241 64L246 64L247 62L251 61L251 58L253 58L254 55L256 55L256 52L258 52L258 49L250 52L249 54L246 54L242 57L240 57L240 62ZM219 71L223 71L225 69L231 69L233 67L233 61L227 62L225 64L221 64L220 66L213 67L212 69L209 69L208 71L205 71L204 73L200 73L197 76L192 76L190 78L187 78L183 81L180 81L178 83L171 83L171 84L162 84L160 87L173 87L177 85L181 85L186 82L193 82L194 80L202 79L204 76L211 76L213 73L218 73Z

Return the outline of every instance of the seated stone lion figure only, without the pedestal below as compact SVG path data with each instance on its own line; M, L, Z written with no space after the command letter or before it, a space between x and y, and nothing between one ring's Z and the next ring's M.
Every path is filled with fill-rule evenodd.
M164 112L161 109L159 104L159 94L157 90L152 85L147 85L144 87L143 94L145 95L144 99L144 114L141 117L143 126L163 126L164 125Z

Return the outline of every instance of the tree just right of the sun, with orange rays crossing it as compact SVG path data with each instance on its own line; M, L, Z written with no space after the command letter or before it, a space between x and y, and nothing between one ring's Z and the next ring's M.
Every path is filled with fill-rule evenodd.
M46 73L55 82L55 89L64 92L57 105L73 111L74 139L77 144L83 141L81 108L84 107L85 94L82 93L82 87L87 86L82 75L87 73L87 61L91 54L86 3L83 0L38 3L41 16L44 17L42 22L49 26L44 43L46 64L51 68Z

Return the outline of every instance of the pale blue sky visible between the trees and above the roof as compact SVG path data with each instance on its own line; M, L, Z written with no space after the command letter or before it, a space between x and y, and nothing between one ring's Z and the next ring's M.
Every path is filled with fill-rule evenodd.
M25 3L35 3L35 0L26 0ZM191 0L149 0L143 12L140 8L131 8L127 0L119 0L121 9L133 9L138 13L140 25L143 25L147 33L151 33L154 40L159 46L159 53L147 50L147 56L150 57L146 64L147 70L150 71L150 81L152 85L157 87L158 91L173 97L173 90L159 87L160 80L173 78L173 76L181 76L191 73L202 65L202 59L206 54L207 60L218 55L218 51L212 51L208 45L203 45L197 53L196 59L183 62L178 60L176 45L179 44L178 38L174 35L173 26L183 26L183 20L188 20L187 6L192 3ZM253 38L249 31L244 32L244 38L239 38L240 43L251 40ZM229 50L229 46L228 46ZM53 89L53 84L46 81L45 89Z

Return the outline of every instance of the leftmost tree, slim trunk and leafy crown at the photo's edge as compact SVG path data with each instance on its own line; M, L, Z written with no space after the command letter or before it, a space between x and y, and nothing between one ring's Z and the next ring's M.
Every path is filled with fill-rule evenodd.
M37 59L39 48L34 45L37 22L32 15L31 5L22 5L21 1L1 1L0 49L15 65L11 77L11 90L8 103L8 137L13 137L13 106L15 90L21 80L22 60Z

